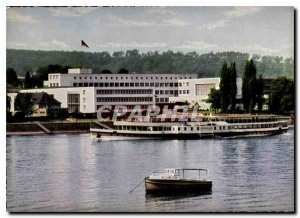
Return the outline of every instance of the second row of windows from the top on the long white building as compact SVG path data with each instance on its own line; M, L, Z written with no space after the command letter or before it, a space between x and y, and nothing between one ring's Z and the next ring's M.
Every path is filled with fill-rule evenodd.
M51 85L51 83L50 83ZM74 87L178 87L178 83L73 83Z

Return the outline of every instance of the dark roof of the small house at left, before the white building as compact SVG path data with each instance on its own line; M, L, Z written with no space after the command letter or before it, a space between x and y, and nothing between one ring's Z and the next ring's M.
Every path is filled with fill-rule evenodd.
M19 93L18 94L18 98L20 98L21 101L24 101L24 100L28 99L29 97L33 104L47 104L47 105L61 104L52 95L49 95L46 92Z

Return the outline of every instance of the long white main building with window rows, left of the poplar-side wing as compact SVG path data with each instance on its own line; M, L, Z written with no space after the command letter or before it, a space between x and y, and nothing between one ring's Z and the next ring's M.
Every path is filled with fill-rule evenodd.
M196 74L92 74L90 69L69 69L68 74L52 73L45 88L21 92L47 92L69 112L95 113L103 105L140 105L169 103L178 96L178 81L195 79Z

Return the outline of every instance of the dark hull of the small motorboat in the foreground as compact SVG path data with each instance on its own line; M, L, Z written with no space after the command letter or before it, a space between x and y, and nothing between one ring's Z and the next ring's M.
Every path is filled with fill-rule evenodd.
M209 192L212 181L209 180L172 180L145 178L146 193L172 193L172 192Z

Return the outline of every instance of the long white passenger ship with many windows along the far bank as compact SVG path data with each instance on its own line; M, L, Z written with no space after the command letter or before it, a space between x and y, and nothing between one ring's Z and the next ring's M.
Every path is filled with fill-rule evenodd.
M99 140L111 139L199 139L239 138L270 136L287 132L287 121L275 116L205 117L200 121L161 122L157 118L149 121L115 121L112 128L91 128L90 132Z

